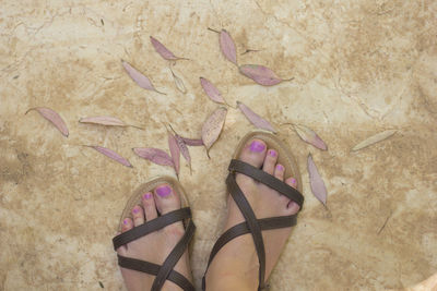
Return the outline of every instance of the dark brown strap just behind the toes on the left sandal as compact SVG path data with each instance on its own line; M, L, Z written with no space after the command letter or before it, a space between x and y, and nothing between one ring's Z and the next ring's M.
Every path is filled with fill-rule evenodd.
M191 218L191 210L190 207L185 207L146 221L141 226L134 227L115 237L113 239L114 250L117 250L121 245L130 243L131 241L140 239L141 237L147 235L151 232L163 229L168 225L188 218Z

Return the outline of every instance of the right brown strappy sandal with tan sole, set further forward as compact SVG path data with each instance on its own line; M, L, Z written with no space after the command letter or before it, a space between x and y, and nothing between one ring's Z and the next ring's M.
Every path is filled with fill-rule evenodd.
M297 181L297 190L277 180L275 177L262 171L261 169L258 169L249 163L238 160L241 149L244 148L246 143L251 138L260 138L265 142L269 148L274 148L275 150L277 150L279 153L277 162L283 165L285 168L284 177L290 177L290 175L294 177ZM228 243L231 240L239 235L250 233L253 239L260 265L258 290L262 290L265 288L265 279L264 279L265 250L261 231L293 227L296 225L297 214L292 216L257 219L252 208L250 207L249 202L246 199L244 193L241 192L241 189L235 181L235 173L238 172L246 174L257 180L258 182L261 182L268 185L269 187L276 190L280 194L285 195L290 199L296 202L302 209L302 206L304 204L304 196L300 194L302 193L300 173L298 171L297 163L295 162L292 153L275 135L264 131L253 131L241 138L234 155L234 158L231 160L228 170L229 174L227 175L226 179L227 189L232 197L234 198L235 203L237 204L239 210L241 211L243 216L245 217L246 221L232 227L218 238L218 240L216 241L215 245L211 251L210 258L208 262L208 267L210 266L214 256L226 243ZM202 290L205 290L205 275L208 271L208 267L202 278Z

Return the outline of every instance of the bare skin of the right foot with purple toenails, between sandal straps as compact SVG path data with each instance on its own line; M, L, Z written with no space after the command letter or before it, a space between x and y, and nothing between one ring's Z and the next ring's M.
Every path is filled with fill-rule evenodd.
M284 180L284 166L276 163L277 151L267 148L261 140L251 140L241 150L239 159L274 175L286 184L296 187L296 179ZM259 183L241 173L236 181L258 219L294 215L299 206L275 190ZM238 206L231 195L227 199L227 221L224 231L244 222ZM292 228L262 231L265 247L265 280L269 278ZM212 260L206 272L208 290L258 290L259 260L250 234L240 235L225 244ZM232 289L229 289L232 288Z

